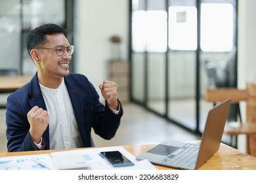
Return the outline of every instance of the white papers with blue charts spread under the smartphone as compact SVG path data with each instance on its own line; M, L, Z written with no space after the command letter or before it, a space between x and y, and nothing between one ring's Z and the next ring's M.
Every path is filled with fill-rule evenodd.
M107 159L100 156L100 152L119 151L135 165L129 167L114 167ZM0 169L22 169L22 170L43 170L43 169L92 169L92 170L155 170L156 167L148 160L137 161L135 156L127 152L121 146L107 148L90 148L79 150L68 150L53 152L51 154L38 154L33 156L10 156L0 158Z

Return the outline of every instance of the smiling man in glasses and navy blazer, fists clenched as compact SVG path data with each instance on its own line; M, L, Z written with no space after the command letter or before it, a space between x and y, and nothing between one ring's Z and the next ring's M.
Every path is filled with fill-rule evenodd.
M27 48L37 73L7 98L8 151L90 147L91 128L104 139L114 137L123 115L117 84L100 84L104 106L86 76L69 73L74 46L66 31L41 25L30 31Z

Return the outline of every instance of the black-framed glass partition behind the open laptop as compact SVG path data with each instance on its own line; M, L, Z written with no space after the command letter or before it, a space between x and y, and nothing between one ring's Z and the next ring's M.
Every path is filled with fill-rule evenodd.
M131 99L202 133L205 90L236 87L237 1L131 2Z

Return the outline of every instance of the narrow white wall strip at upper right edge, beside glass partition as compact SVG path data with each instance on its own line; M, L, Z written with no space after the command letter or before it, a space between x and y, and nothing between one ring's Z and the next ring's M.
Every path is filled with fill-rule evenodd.
M256 82L256 1L238 0L238 86Z

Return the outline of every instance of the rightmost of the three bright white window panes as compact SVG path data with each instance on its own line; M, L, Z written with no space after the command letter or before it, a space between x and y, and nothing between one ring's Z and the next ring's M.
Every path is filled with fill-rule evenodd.
M201 49L203 52L229 52L233 47L233 6L202 3Z

